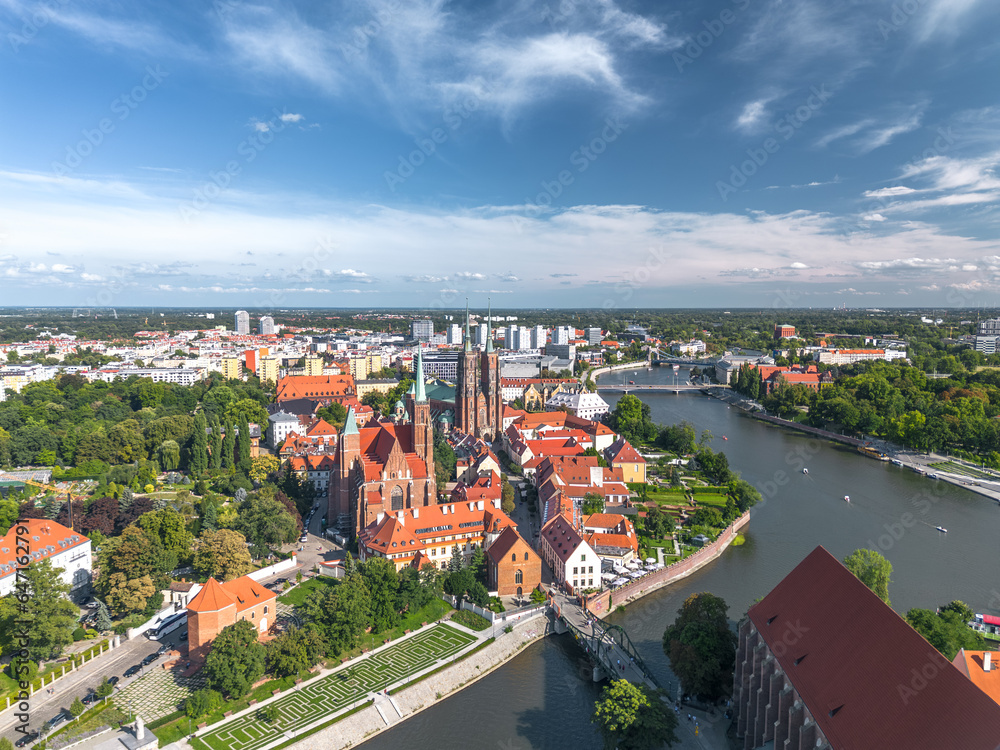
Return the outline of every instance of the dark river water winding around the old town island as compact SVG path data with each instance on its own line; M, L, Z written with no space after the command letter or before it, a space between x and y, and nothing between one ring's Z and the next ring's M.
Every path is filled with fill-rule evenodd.
M686 379L681 370L679 380ZM636 384L672 383L670 368L626 371ZM601 378L622 383L623 374ZM602 394L612 405L618 394ZM764 495L746 529L707 567L629 604L609 619L628 632L660 681L671 683L661 639L684 599L710 591L734 625L817 545L843 559L878 549L893 565L889 595L904 614L961 599L1000 613L1000 506L967 490L874 461L846 446L753 420L698 393L641 394L661 424L687 420L710 431L713 448ZM725 438L725 439L724 439ZM808 474L802 468L809 469ZM849 495L850 503L844 502ZM935 529L948 529L943 534ZM366 750L510 748L597 750L590 724L599 692L569 636L548 637L455 696L364 744Z

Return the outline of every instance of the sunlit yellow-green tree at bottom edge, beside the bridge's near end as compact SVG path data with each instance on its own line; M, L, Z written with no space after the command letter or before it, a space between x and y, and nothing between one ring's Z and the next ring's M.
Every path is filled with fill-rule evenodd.
M595 704L593 722L606 750L656 750L677 741L677 717L660 696L628 680L612 680Z

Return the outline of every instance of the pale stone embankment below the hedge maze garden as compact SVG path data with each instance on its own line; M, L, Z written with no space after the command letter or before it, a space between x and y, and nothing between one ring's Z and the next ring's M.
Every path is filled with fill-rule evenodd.
M502 667L529 644L549 633L547 617L519 623L510 633L500 632L493 643L420 682L404 687L374 705L345 717L289 747L297 750L343 750L356 747L380 732L433 707L452 693ZM470 725L470 736L474 733Z

